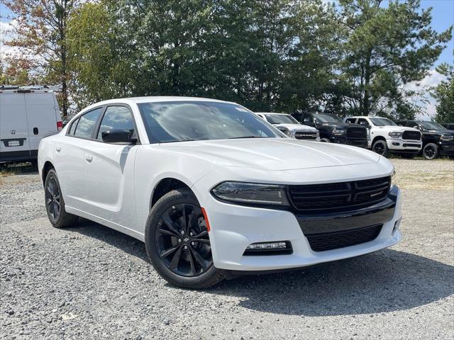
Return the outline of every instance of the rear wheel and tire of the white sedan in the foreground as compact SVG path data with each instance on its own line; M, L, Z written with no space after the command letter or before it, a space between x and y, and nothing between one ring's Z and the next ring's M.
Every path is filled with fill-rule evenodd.
M66 212L65 200L54 169L50 169L45 177L44 190L45 210L48 212L50 223L56 228L74 225L79 217Z

